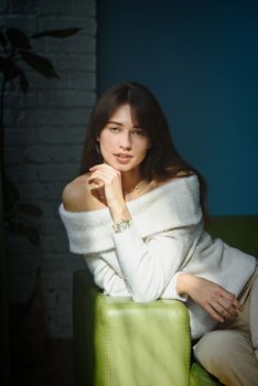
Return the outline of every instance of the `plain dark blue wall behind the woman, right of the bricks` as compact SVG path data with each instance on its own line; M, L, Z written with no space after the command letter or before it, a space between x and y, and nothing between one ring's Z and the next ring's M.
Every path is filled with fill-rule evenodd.
M99 0L98 94L137 81L206 178L212 214L258 214L258 1Z

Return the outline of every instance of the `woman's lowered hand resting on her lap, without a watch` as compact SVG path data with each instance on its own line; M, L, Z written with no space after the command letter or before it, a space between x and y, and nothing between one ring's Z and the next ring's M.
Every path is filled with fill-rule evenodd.
M176 290L179 293L187 293L217 322L224 322L226 318L235 318L243 310L235 294L213 281L191 274L178 275Z

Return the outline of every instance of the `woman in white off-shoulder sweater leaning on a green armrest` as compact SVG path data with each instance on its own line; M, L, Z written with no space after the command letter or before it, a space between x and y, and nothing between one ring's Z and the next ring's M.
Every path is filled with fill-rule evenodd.
M255 385L256 259L204 230L205 182L176 151L148 88L118 84L100 97L60 214L71 250L85 255L106 294L184 301L196 360L225 385Z

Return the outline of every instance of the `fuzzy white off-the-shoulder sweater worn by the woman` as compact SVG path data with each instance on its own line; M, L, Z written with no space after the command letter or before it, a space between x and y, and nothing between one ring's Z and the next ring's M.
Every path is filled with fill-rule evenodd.
M108 208L67 212L60 205L69 249L85 255L98 287L109 296L147 302L179 299L190 311L192 337L216 326L191 298L178 294L176 275L190 272L238 296L256 258L232 248L203 229L195 175L173 180L127 203L132 226L114 233Z

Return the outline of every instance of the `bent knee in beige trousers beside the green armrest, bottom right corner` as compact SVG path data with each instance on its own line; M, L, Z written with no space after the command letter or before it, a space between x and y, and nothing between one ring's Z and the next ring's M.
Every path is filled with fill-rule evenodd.
M194 346L197 362L226 386L254 386L258 364L248 333L217 330L205 334Z

